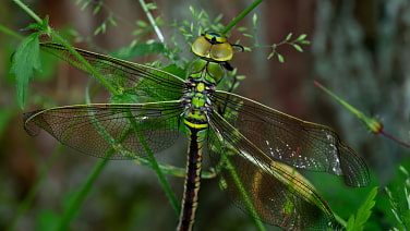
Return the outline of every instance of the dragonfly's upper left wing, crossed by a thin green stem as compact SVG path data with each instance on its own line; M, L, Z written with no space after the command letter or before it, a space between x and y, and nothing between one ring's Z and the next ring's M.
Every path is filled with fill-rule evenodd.
M62 45L46 42L40 44L40 47L43 50L89 73L89 70ZM165 101L180 99L182 97L184 81L176 75L147 65L77 48L75 50L116 89L132 89L137 96L144 96L145 98L138 98L138 102Z

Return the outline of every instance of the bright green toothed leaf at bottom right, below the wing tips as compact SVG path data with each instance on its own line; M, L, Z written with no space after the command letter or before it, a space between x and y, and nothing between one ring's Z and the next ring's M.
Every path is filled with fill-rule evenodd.
M372 208L376 204L374 198L377 195L377 190L378 187L373 187L373 190L369 193L366 200L362 206L360 206L358 214L355 216L350 216L347 230L359 231L364 229L364 223L372 215Z

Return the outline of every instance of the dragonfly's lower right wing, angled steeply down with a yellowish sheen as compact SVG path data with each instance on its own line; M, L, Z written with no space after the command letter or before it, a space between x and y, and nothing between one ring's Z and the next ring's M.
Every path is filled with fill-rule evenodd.
M285 230L327 230L336 221L313 186L293 168L273 161L214 112L208 151L233 203L264 222Z

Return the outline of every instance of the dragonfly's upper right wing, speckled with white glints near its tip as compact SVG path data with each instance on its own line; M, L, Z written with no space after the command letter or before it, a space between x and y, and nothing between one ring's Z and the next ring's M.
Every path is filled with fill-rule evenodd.
M363 159L328 126L288 115L245 97L218 92L214 110L274 161L298 169L342 175L350 186L366 186Z

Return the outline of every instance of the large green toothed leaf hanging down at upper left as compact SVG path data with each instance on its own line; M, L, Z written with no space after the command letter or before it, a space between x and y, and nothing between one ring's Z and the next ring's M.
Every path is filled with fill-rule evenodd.
M12 57L10 73L15 75L17 101L25 107L28 81L33 78L33 70L41 71L39 41L40 32L24 38Z

